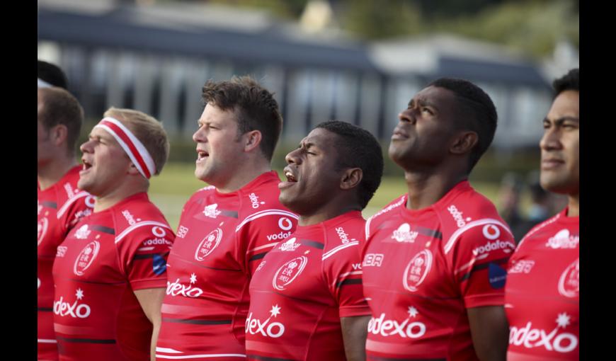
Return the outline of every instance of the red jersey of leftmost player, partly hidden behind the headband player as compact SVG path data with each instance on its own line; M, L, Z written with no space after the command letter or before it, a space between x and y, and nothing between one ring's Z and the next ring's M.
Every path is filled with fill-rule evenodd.
M71 168L51 187L38 189L38 358L57 360L52 307L52 266L57 246L76 222L92 212L94 197L77 189L80 166Z

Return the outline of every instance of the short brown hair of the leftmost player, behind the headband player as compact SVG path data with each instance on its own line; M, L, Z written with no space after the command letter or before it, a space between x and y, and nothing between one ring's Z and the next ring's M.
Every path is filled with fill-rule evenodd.
M67 150L74 151L81 123L84 122L84 108L71 93L63 88L38 88L42 100L39 118L45 130L62 124L67 127Z

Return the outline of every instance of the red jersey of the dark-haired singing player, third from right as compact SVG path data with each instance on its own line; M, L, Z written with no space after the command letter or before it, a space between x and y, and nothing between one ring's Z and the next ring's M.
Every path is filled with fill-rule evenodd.
M341 317L367 316L360 241L365 220L352 211L278 243L250 285L249 360L346 360Z

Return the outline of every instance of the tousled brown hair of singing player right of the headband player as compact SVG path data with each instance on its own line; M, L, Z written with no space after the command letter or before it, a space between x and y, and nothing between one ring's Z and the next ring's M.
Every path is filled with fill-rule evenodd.
M273 93L251 76L234 76L230 81L207 81L203 86L203 101L234 111L238 135L251 130L261 132L261 151L271 161L283 130L283 117Z

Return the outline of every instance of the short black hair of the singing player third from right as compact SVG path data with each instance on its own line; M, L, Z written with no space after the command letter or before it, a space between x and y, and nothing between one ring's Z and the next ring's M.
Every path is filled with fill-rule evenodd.
M370 202L381 184L383 176L383 153L374 135L356 125L330 120L316 125L338 135L336 143L337 164L340 168L361 168L362 181L358 186L358 201L362 210Z

